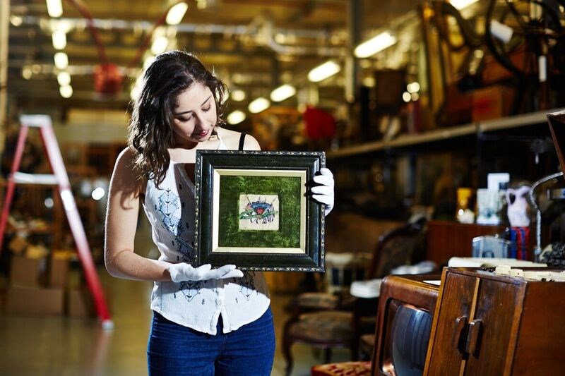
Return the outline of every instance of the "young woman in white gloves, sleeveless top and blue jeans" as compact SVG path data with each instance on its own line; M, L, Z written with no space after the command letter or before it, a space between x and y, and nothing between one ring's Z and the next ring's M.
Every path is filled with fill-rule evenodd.
M192 267L196 150L259 150L221 128L225 87L195 56L170 51L145 71L110 183L106 268L155 281L148 341L150 375L270 375L275 352L270 298L260 272L235 265ZM321 169L312 198L333 207L333 176ZM139 207L159 260L134 253Z

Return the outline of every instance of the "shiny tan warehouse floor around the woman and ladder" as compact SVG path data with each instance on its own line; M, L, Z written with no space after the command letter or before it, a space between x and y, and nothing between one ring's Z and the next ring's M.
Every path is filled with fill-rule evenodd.
M139 248L150 244L147 236L147 231L140 231ZM145 349L152 284L112 278L103 268L99 274L114 330L102 330L94 319L17 317L0 312L0 375L147 374ZM285 374L280 343L283 323L288 317L284 307L290 298L288 294L272 293L277 348L271 375ZM312 351L309 346L295 344L292 353L295 356L292 376L309 375L312 365L323 363L321 352ZM336 349L332 360L343 361L348 357L348 351Z

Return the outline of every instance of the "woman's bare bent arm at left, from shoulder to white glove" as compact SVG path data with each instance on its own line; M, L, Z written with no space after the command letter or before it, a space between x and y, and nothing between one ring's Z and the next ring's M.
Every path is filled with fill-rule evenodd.
M168 262L151 260L133 252L140 193L143 182L133 171L133 152L119 154L108 193L104 259L114 277L142 281L171 281Z

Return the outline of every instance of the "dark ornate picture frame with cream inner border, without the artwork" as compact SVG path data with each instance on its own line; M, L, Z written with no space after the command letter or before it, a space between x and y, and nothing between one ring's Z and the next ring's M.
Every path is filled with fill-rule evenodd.
M309 184L321 167L326 164L323 152L263 152L236 150L197 150L195 197L196 231L194 249L196 265L212 264L221 266L237 265L238 269L289 272L324 272L324 215L323 205L309 198ZM299 178L300 196L292 195L293 202L299 202L299 246L269 247L249 246L248 242L234 246L222 246L218 238L220 231L220 193L224 191L222 202L227 207L236 205L239 199L230 198L222 187L222 176L260 176L271 182L278 177ZM225 179L229 180L229 179ZM282 183L282 181L281 181ZM269 189L277 186L270 184ZM279 192L273 192L278 194ZM240 194L245 194L241 192ZM283 194L283 193L280 193ZM287 193L284 193L287 194ZM228 200L225 197L229 198ZM233 194L232 194L233 196ZM284 200L284 199L283 199ZM282 205L282 204L281 204ZM281 216L280 223L284 225ZM225 219L224 219L225 220ZM222 222L223 223L223 222ZM238 229L237 232L242 230ZM258 234L258 231L253 231ZM284 231L276 230L280 238ZM266 231L261 231L266 234ZM234 233L235 234L235 233ZM266 236L258 234L257 236ZM235 234L237 235L237 234ZM239 234L239 238L248 238L248 234ZM295 234L293 234L295 236ZM237 238L238 236L234 236ZM296 237L296 236L295 236ZM225 236L227 238L227 236ZM284 240L284 239L283 239Z

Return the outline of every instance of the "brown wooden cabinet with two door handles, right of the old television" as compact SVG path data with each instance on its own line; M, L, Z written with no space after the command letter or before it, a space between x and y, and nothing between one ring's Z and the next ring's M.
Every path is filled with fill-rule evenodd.
M424 375L565 375L565 283L445 268Z

